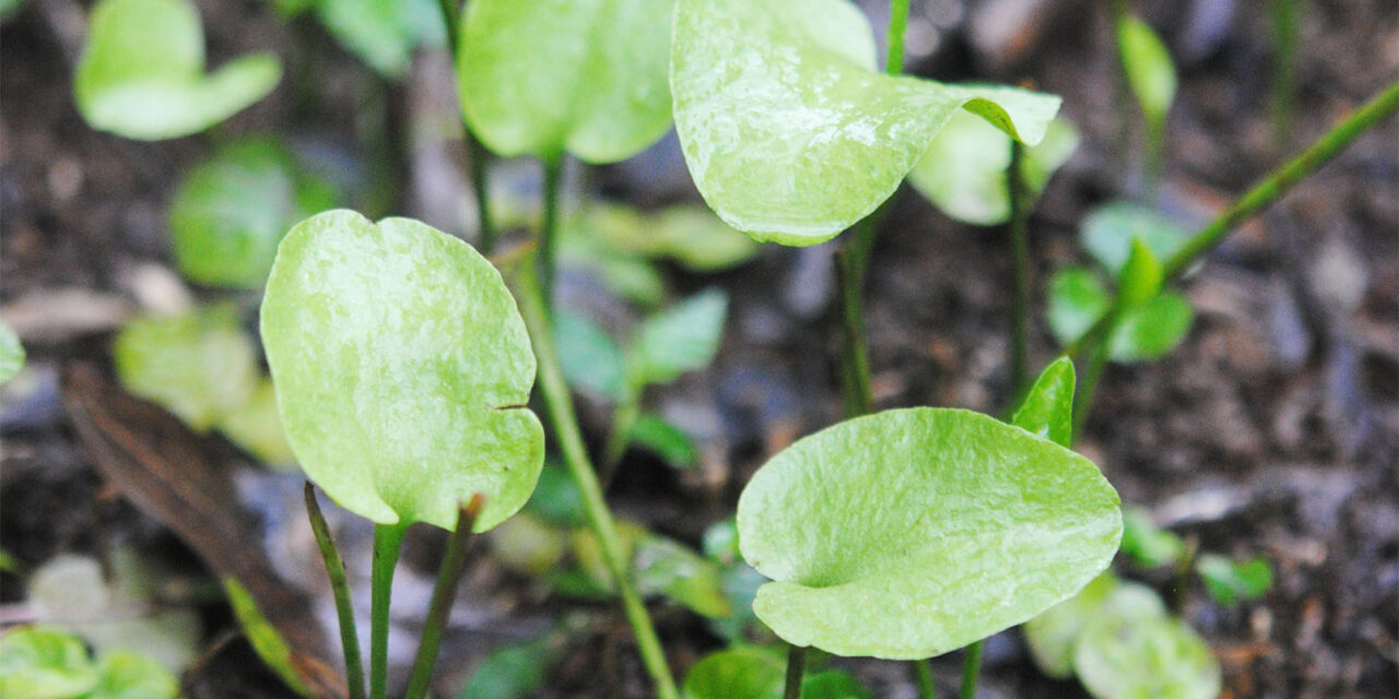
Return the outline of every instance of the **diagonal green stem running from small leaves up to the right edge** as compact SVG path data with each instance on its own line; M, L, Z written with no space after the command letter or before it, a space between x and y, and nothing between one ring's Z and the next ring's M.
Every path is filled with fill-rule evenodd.
M1360 109L1336 124L1309 148L1300 152L1280 168L1254 185L1233 207L1216 218L1203 231L1195 233L1170 260L1165 261L1165 277L1175 278L1184 273L1196 257L1213 250L1237 225L1248 221L1263 207L1287 193L1302 178L1336 157L1367 129L1382 122L1399 109L1399 81L1389 84L1382 92L1365 102Z

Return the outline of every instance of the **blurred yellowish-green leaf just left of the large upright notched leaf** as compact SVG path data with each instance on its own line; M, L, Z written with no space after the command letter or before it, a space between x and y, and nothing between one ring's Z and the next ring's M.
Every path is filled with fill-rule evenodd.
M126 390L204 431L238 410L257 386L253 341L229 305L129 323L112 345Z

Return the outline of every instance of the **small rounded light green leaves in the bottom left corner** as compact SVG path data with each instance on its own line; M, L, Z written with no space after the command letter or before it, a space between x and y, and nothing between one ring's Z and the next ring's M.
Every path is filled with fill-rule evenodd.
M179 679L140 653L115 650L97 660L83 642L48 626L0 636L0 696L29 699L173 699Z

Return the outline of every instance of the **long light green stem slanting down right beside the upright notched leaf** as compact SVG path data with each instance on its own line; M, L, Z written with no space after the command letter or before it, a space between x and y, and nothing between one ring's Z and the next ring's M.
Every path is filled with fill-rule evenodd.
M676 691L676 681L670 675L670 667L666 664L656 629L652 626L646 607L631 579L631 566L623 555L617 526L613 523L611 512L607 510L597 474L593 471L588 450L583 447L574 401L568 393L568 384L564 383L564 372L554 351L554 337L544 308L544 292L532 263L533 260L525 260L519 266L515 288L520 302L520 313L525 316L525 324L529 327L530 340L534 344L534 356L539 359L540 393L564 453L564 464L582 495L588 524L602 544L603 561L617 583L623 611L625 611L627 621L631 622L632 632L637 635L637 650L641 653L641 661L656 685L656 696L659 699L677 699L680 695Z

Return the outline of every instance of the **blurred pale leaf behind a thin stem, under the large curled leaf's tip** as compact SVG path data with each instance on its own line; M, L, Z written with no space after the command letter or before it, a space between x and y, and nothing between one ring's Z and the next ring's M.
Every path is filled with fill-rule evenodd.
M1049 122L1038 145L1024 150L1021 178L1031 206L1053 171L1079 147L1079 131L1065 119ZM985 119L961 110L933 138L908 175L944 214L968 224L996 225L1010 219L1010 137Z

